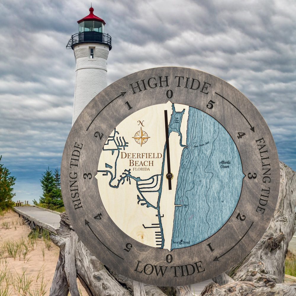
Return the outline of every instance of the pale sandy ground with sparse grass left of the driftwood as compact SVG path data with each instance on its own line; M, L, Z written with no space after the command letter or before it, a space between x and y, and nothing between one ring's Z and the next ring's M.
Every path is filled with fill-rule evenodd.
M9 296L49 295L59 248L51 242L48 250L42 238L38 238L32 246L28 240L30 231L17 213L9 211L0 216L0 295L4 295L6 288L8 293L5 295ZM10 246L16 250L17 244L22 244L22 249L18 248L20 252L17 251L14 259L7 249ZM80 283L78 287L81 295L88 295Z

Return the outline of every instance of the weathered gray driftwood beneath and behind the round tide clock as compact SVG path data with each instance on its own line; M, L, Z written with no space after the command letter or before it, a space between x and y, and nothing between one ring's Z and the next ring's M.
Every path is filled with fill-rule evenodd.
M288 244L296 230L295 172L280 163L281 183L276 210L260 242L236 266L213 278L202 296L295 296L296 284L284 284ZM77 278L91 296L192 296L188 286L155 287L127 279L91 255L61 214L58 235L51 239L60 248L50 296L79 296Z

